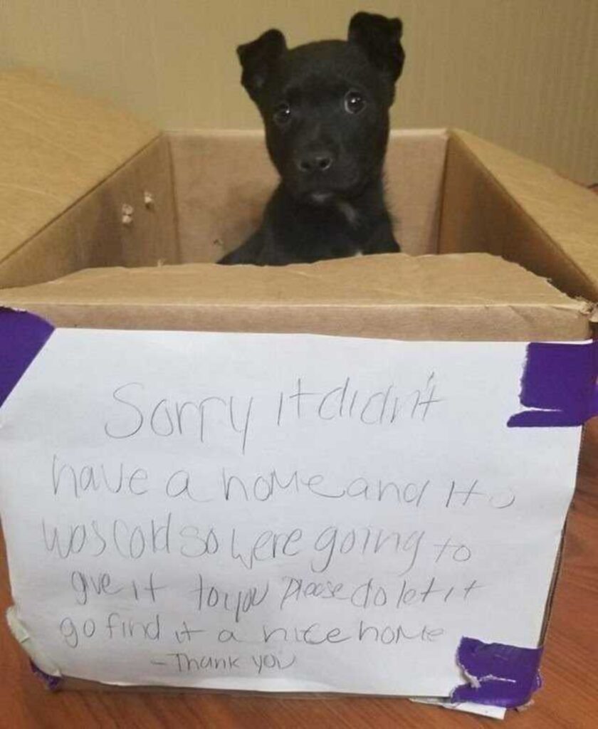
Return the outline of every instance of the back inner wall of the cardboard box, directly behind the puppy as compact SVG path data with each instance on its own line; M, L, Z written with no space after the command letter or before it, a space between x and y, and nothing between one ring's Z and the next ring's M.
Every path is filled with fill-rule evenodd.
M444 130L391 133L387 204L395 215L395 233L405 253L438 252L447 139ZM265 203L276 186L263 133L175 132L168 133L168 141L182 261L217 261L259 225Z

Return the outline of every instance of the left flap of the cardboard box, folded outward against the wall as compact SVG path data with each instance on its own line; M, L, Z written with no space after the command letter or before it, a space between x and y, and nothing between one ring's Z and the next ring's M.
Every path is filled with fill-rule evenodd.
M157 136L35 71L2 71L0 261Z

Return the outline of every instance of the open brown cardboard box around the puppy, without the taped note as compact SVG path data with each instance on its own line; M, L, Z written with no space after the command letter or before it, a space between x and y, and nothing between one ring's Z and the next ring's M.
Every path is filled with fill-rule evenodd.
M28 71L0 126L0 306L55 327L591 337L598 200L469 133L392 132L402 254L231 268L276 181L261 132L160 133Z

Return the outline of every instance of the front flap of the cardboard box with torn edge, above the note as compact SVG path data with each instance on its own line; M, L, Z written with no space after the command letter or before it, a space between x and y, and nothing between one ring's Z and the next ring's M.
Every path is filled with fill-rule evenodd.
M92 269L4 291L0 305L57 326L423 340L589 337L585 303L487 254L387 254L284 268Z

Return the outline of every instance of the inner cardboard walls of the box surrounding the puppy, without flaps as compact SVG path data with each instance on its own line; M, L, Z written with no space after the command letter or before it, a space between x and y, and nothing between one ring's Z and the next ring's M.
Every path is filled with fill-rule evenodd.
M580 271L460 133L393 131L385 176L405 254L489 252L586 295ZM215 262L259 225L275 185L260 131L159 134L7 254L0 288L88 268Z

